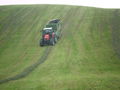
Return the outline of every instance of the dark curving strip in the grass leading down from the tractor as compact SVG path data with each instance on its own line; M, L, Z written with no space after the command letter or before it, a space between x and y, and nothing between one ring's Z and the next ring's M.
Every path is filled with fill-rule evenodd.
M3 79L3 80L0 80L0 84L3 84L3 83L7 83L7 82L10 82L10 81L14 81L14 80L18 80L18 79L21 79L21 78L24 78L26 76L28 76L32 71L34 71L40 64L44 63L47 59L47 57L49 56L51 50L52 50L53 47L49 46L49 47L46 47L46 49L44 50L43 52L43 55L40 57L40 59L28 66L27 68L25 68L21 73L18 73L17 75L15 76L12 76L12 77L8 77L6 79Z

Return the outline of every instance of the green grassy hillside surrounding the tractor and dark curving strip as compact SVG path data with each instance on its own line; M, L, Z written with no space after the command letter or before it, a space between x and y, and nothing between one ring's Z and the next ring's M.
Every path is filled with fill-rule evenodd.
M39 31L50 19L63 22L63 37L47 61L1 90L119 90L119 13L75 6L0 7L0 79L35 63L46 48L38 45Z

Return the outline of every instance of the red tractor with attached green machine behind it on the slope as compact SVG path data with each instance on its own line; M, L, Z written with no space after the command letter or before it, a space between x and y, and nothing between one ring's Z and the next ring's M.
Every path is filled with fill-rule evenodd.
M49 21L42 30L42 39L40 46L52 45L54 46L61 36L61 22L60 19L53 19Z

